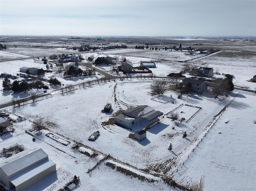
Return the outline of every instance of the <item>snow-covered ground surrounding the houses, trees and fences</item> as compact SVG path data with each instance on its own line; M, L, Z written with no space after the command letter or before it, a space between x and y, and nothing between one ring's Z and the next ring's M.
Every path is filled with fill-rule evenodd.
M23 55L21 52L18 54ZM152 71L162 77L179 72L183 64L177 61L184 61L191 56L177 51L135 49L110 50L103 54L84 53L83 56L92 54L95 57L125 56L134 65L140 61L155 61L157 68ZM195 59L192 63L207 65L214 70L218 68L219 73L234 75L234 83L247 85L252 90L256 87L256 83L247 81L256 74L254 57L245 58L242 62L240 58L225 60L218 54ZM0 70L1 73L15 74L20 67L35 65L45 67L42 62L25 59L1 62ZM104 68L108 73L111 70L111 67ZM67 81L62 79L62 75L55 75L63 84L76 84L100 77L97 74ZM81 185L76 188L77 191L182 190L170 187L160 177L171 178L194 191L226 191L230 190L230 186L256 188L254 94L245 95L234 90L228 97L220 96L218 99L208 93L200 97L196 94L183 95L182 99L178 99L176 92L167 91L164 98L153 98L150 84L155 80L134 77L123 81L103 81L84 88L76 87L74 91L63 94L60 90L53 91L56 87L51 87L48 91L50 96L39 98L34 103L25 103L24 106L6 108L10 117L16 119L22 116L26 121L14 124L14 133L0 137L0 149L16 143L25 148L43 148L49 159L56 163L56 174L27 191L58 190L74 175L80 176ZM11 100L13 96L21 98L29 96L29 93L13 94L1 89L1 103ZM109 114L102 112L107 103L111 103L113 109ZM128 130L108 121L120 110L144 104L164 115L159 124L147 130L147 137L141 142L129 138L131 133L141 129L140 126ZM191 119L188 122L172 121L168 116L173 110L180 114L180 118ZM32 142L33 137L26 134L25 130L31 129L32 121L38 118L43 118L47 129L42 130L42 134ZM95 131L99 131L100 136L95 141L88 141ZM182 138L185 131L187 137ZM168 150L170 143L172 151ZM75 144L79 145L78 149L72 148ZM95 157L83 153L94 154ZM108 155L110 157L87 173ZM110 163L145 178L141 180L127 176L117 168L112 169Z

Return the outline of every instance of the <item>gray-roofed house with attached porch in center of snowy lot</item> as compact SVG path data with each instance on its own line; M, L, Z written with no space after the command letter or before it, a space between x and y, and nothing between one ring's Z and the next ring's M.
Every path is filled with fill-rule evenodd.
M116 116L114 120L116 124L126 128L131 128L133 125L141 125L146 127L147 125L156 122L158 117L162 115L162 112L155 111L150 106L140 105L122 112Z

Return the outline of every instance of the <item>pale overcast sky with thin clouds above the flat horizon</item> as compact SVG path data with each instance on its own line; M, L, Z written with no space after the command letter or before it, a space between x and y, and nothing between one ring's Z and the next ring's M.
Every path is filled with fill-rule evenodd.
M0 35L256 35L256 0L0 0Z

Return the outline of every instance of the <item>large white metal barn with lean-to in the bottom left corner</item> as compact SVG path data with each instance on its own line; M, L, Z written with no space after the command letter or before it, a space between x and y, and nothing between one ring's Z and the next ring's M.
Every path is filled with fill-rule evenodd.
M23 191L44 177L56 172L56 164L42 149L24 150L1 161L0 180L16 191Z

